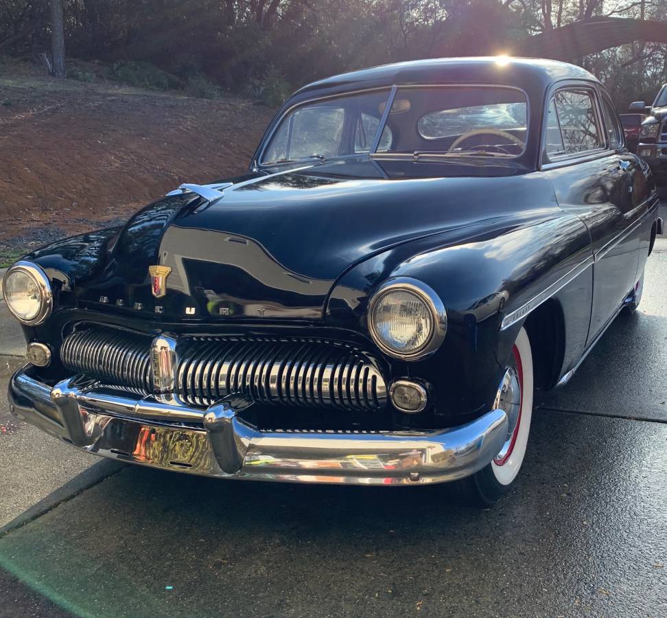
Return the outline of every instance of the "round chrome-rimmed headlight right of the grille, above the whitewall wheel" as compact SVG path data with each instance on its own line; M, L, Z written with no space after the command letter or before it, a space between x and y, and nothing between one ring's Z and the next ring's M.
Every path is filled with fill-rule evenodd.
M371 300L368 325L381 350L390 356L415 360L441 345L447 314L431 288L416 279L401 277L377 291Z

